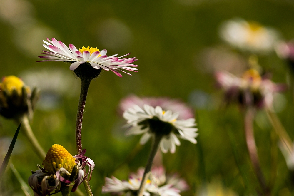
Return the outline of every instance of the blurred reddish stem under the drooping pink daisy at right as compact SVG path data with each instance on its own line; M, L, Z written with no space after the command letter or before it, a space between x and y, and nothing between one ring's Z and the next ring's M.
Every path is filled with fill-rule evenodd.
M260 184L260 187L262 188L265 195L270 195L270 190L266 185L265 177L262 173L259 158L258 158L257 147L256 147L256 143L254 139L254 131L253 131L253 116L254 116L253 108L248 107L246 109L245 119L244 119L246 144L247 144L250 160L253 165L253 169L257 177L257 180Z

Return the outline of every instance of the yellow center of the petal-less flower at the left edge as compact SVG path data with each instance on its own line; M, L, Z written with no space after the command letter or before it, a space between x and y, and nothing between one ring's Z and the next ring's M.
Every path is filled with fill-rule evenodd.
M0 83L0 90L7 91L9 95L12 91L16 90L18 94L21 94L21 88L24 86L24 82L16 76L6 76L2 79Z

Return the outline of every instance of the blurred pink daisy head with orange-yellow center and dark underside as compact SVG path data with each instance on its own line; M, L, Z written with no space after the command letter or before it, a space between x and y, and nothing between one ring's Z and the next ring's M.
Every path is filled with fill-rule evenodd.
M216 80L225 91L227 101L236 101L241 105L255 105L258 108L265 106L272 109L274 93L285 89L282 84L261 78L255 69L245 71L241 78L220 71L216 73Z

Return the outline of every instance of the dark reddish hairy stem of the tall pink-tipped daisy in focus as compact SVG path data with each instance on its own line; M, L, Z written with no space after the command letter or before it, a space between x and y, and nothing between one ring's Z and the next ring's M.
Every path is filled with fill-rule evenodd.
M81 78L81 94L78 102L78 113L76 117L76 151L78 154L82 152L82 121L90 83L90 78ZM88 179L86 178L83 183L87 195L93 196Z

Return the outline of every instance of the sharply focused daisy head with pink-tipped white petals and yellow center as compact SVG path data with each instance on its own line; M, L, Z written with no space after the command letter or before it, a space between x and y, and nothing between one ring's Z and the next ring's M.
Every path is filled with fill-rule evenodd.
M99 51L97 48L90 48L88 47L82 47L81 49L77 49L73 44L69 44L69 48L62 43L61 41L57 41L55 38L52 38L52 41L47 38L47 41L44 41L45 44L43 46L48 49L49 51L43 51L45 56L39 56L40 58L47 58L47 60L43 61L64 61L64 62L70 62L72 63L69 67L70 70L77 69L80 65L85 66L84 63L91 65L94 69L104 69L106 71L111 70L113 73L118 75L119 77L122 77L121 73L118 71L122 71L128 75L131 75L130 73L127 73L123 70L127 71L136 71L138 70L137 65L133 65L134 61L137 61L133 58L123 58L130 53L116 57L117 54L112 56L107 56L107 50L103 49L102 51ZM42 61L37 61L42 62ZM122 70L123 69L123 70ZM99 72L100 73L100 72Z

